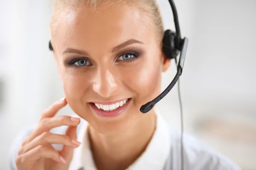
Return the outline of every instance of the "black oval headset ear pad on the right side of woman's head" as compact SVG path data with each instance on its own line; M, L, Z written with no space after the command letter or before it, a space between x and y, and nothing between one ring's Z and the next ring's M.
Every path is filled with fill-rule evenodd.
M176 58L179 54L175 32L166 30L163 36L163 52L168 59Z

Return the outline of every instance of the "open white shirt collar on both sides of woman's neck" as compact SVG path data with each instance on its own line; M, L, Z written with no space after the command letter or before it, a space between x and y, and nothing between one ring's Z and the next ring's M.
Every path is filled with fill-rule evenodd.
M155 111L157 124L154 135L142 155L126 170L162 170L166 164L171 150L169 127L159 111ZM81 130L78 133L78 141L81 141L82 144L74 150L70 170L79 170L81 167L84 167L83 170L97 170L90 150L90 142L87 134L88 123L84 120L82 123Z

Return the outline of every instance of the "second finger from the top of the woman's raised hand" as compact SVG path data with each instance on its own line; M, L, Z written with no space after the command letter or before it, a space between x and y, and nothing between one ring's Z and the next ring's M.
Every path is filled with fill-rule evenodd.
M63 125L67 126L77 126L80 123L80 118L70 117L70 116L56 116L51 118L44 118L38 124L36 129L29 134L29 136L23 141L22 146L32 141L35 137L41 135L45 131L49 131L54 127L59 127Z

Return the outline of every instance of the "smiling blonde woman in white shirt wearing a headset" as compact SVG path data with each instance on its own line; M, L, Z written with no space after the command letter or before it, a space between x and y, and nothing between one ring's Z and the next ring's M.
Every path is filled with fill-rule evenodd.
M160 94L170 66L155 0L55 0L53 9L65 97L17 137L12 169L180 169L180 134L154 108L140 112ZM55 116L67 103L78 116ZM185 170L240 169L196 139L183 140Z

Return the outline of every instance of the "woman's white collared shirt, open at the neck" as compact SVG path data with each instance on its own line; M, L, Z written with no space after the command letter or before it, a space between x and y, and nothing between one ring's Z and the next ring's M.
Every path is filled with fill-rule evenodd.
M181 170L180 132L170 127L158 111L156 130L142 155L126 170ZM78 117L76 115L76 117ZM88 123L81 119L77 128L77 140L82 144L74 149L69 170L97 170L90 150L87 135ZM35 126L21 132L14 140L10 150L11 170L17 170L15 159L22 141ZM52 129L52 133L65 134L67 127ZM61 144L54 144L56 149ZM241 170L236 164L215 152L192 136L183 135L184 170Z

